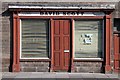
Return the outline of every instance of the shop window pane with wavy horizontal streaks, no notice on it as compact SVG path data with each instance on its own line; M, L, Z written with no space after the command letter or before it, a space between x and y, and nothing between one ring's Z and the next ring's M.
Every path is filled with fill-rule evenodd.
M39 19L22 19L21 24L21 57L48 57L48 21Z

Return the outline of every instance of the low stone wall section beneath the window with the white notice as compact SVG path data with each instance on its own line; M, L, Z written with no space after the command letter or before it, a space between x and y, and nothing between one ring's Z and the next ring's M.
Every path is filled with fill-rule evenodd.
M101 73L103 72L102 62L74 62L73 72Z

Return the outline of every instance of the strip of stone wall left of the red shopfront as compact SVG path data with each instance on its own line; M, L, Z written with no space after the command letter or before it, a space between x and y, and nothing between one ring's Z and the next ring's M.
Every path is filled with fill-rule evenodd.
M10 71L12 59L12 19L8 5L2 3L2 71ZM10 45L11 44L11 45Z

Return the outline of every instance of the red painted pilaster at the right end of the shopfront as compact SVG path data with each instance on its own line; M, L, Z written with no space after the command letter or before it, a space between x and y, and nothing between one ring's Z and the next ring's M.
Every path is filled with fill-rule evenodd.
M105 35L106 35L106 41L105 41L105 72L111 71L111 66L110 66L110 53L111 53L111 16L106 15L106 26L105 26Z

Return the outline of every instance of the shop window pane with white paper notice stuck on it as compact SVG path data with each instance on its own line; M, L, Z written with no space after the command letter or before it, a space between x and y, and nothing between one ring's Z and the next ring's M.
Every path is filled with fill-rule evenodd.
M75 58L102 57L102 20L75 21Z

